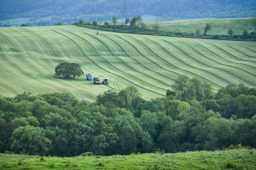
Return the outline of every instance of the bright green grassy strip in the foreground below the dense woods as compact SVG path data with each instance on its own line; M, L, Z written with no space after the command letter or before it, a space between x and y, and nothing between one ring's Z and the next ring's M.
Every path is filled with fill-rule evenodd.
M0 154L2 169L255 169L256 150L197 151L114 156L29 156Z

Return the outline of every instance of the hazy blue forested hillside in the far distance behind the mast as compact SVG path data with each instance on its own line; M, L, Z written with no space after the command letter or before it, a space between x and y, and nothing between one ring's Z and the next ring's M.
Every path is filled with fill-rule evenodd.
M0 1L0 20L11 18L30 18L30 21L52 16L57 22L72 23L81 18L111 20L113 15L122 16L122 1L105 0L2 0ZM240 18L256 16L256 1L231 0L127 0L127 15L161 16L163 20L189 18Z

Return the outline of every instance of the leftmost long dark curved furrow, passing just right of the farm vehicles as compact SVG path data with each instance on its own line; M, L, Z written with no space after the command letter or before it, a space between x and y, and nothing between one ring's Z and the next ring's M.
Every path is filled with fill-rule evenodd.
M53 30L53 31L55 31L55 30ZM57 32L57 31L55 31L55 32ZM113 73L112 71L109 71L109 70L104 69L104 67L101 67L100 65L98 65L97 62L94 62L92 59L90 59L88 56L86 56L86 54L84 53L84 50L82 50L82 48L79 46L79 44L77 44L76 41L72 40L71 38L69 38L68 36L66 36L66 35L64 35L64 34L62 34L62 33L60 33L60 32L57 32L57 33L59 33L59 34L65 36L65 37L67 37L68 39L70 39L71 41L73 41L73 43L75 43L75 44L77 45L77 47L81 50L81 52L84 54L84 57L88 58L90 61L92 61L92 62L94 63L94 65L96 65L97 67L100 67L102 70L104 70L104 71L106 71L106 72L108 72L108 73L110 73L110 74L116 75L116 76L118 76L119 78L125 79L127 82L129 82L129 83L131 83L131 84L134 84L135 86L138 86L139 88L143 88L144 90L153 92L153 93L158 94L158 95L160 95L160 96L164 96L164 95L162 95L162 94L160 94L160 93L158 93L158 92L155 92L155 91L152 91L152 90L148 90L147 88L144 88L144 87L142 87L142 86L139 86L138 84L135 84L134 82L131 82L130 80L127 80L126 78L124 78L124 77L121 76L121 75L115 74L115 73Z

